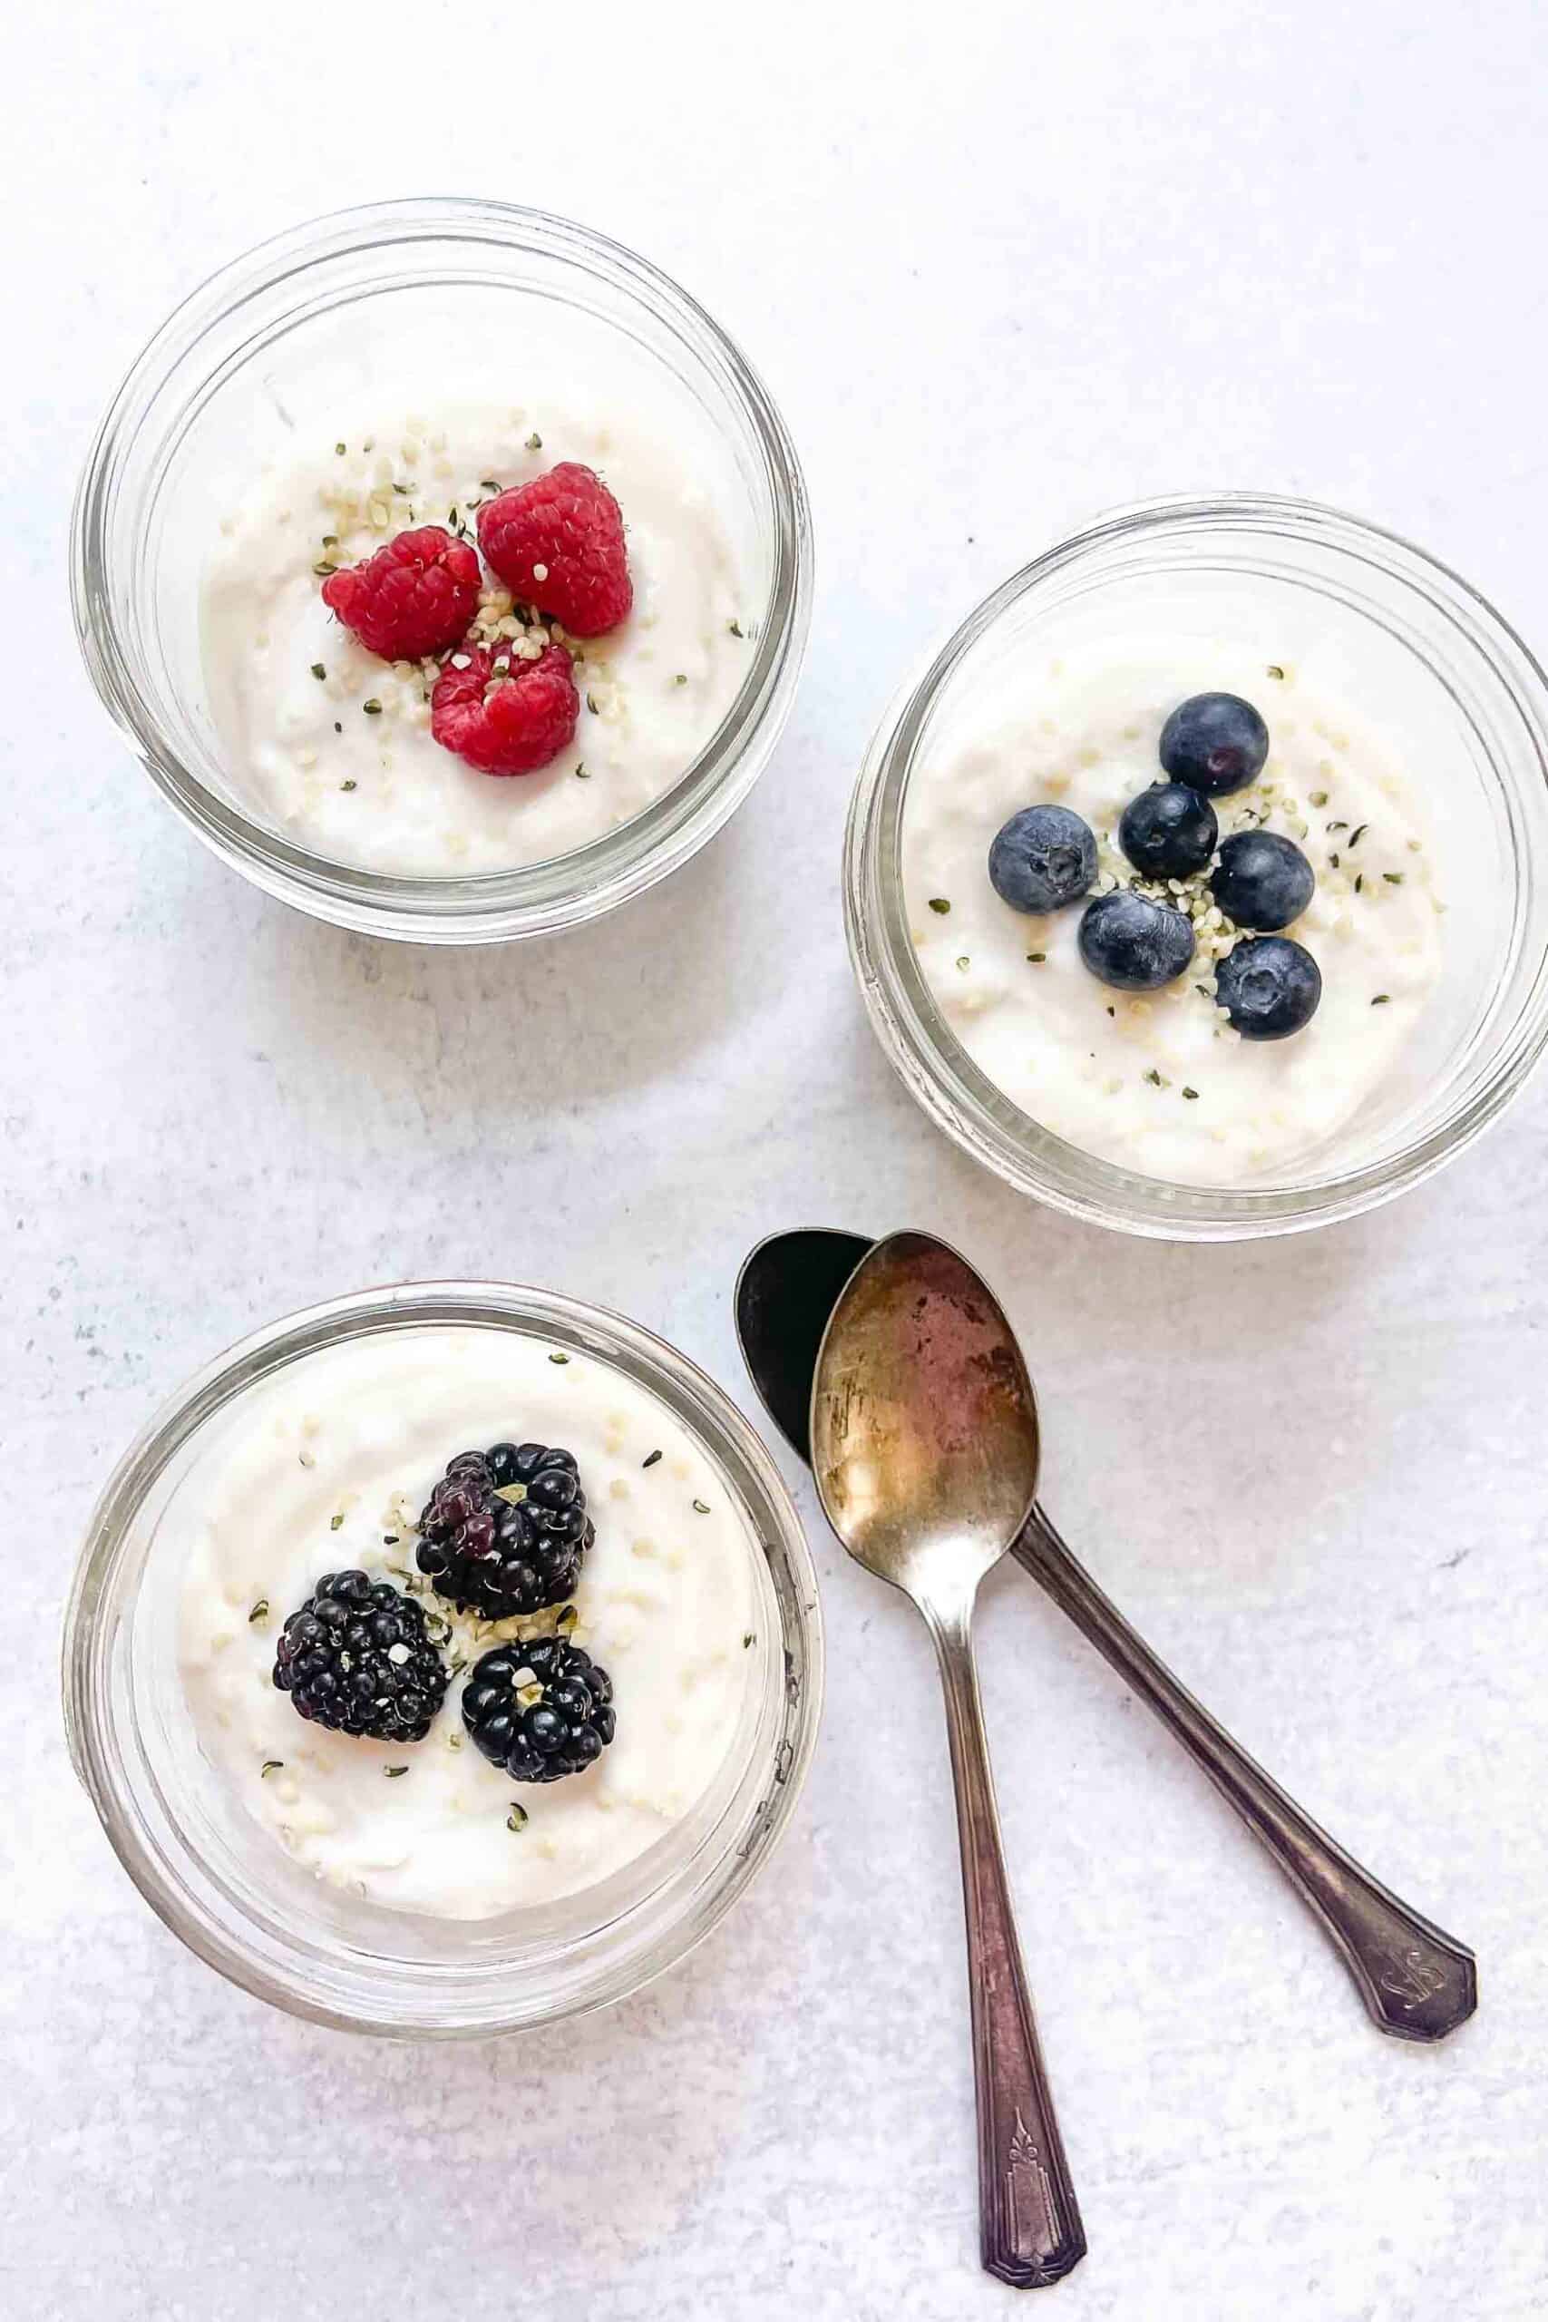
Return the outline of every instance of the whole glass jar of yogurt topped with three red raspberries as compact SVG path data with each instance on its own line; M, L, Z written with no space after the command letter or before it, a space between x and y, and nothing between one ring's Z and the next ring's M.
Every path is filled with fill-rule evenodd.
M392 202L155 332L72 590L104 706L223 861L362 933L504 943L645 892L747 796L812 546L768 390L657 267Z

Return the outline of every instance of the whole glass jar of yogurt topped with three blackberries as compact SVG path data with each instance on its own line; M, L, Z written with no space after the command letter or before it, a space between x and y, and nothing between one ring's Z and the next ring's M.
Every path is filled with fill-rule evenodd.
M538 2022L696 1941L789 1818L810 1558L682 1356L543 1291L369 1293L128 1456L70 1611L77 1769L153 1906L299 2013Z

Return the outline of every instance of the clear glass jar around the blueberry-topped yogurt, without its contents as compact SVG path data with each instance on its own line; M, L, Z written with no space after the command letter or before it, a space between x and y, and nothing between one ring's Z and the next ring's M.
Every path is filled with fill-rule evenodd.
M1167 627L1179 599L1337 646L1372 727L1402 738L1446 864L1446 966L1402 1073L1304 1166L1172 1184L1021 1112L935 1005L903 913L907 789L942 722L1068 634ZM1476 590L1334 509L1221 495L1123 509L993 592L917 671L870 743L845 836L849 957L870 1022L933 1122L1023 1194L1165 1240L1242 1240L1353 1217L1430 1177L1497 1117L1548 1038L1548 680Z

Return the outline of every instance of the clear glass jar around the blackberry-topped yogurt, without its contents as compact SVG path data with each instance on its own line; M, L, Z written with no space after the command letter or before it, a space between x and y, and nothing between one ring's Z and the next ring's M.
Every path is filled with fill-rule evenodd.
M265 1382L318 1349L425 1326L538 1333L608 1363L719 1465L764 1605L736 1744L699 1804L613 1876L504 1918L425 1918L341 1892L274 1841L204 1760L176 1667L169 1521ZM244 1990L343 2029L490 2034L622 1999L701 1941L791 1818L822 1711L822 1616L801 1521L740 1412L636 1324L552 1291L411 1284L292 1314L200 1372L128 1451L91 1519L65 1614L70 1753L130 1878Z

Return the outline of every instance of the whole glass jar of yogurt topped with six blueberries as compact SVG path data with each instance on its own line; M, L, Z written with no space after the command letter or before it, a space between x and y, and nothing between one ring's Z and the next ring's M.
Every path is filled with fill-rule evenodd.
M1070 1217L1290 1233L1418 1184L1548 1043L1548 687L1311 502L1098 518L898 690L845 838L873 1029Z

